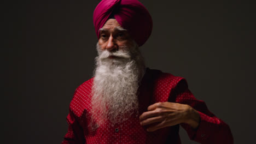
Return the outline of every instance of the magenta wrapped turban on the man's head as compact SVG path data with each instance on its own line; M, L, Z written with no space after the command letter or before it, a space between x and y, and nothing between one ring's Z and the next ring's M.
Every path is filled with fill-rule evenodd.
M98 39L99 29L110 15L115 17L121 27L127 29L138 46L146 43L152 32L153 22L142 3L137 0L102 0L94 10L94 27Z

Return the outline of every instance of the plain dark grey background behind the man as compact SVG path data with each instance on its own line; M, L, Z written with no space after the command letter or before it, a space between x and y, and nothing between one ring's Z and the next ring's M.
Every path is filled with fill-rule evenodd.
M73 92L94 70L92 13L98 2L1 5L1 143L63 140ZM141 2L154 23L141 47L147 66L185 77L195 97L229 124L235 143L255 141L255 5ZM183 129L181 138L196 143Z

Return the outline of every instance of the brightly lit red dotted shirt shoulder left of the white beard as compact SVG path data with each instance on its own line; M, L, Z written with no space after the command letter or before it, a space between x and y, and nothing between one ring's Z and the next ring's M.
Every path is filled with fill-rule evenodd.
M85 81L75 89L73 98L69 105L69 109L72 110L75 115L82 115L85 109L89 109L90 107L90 99L91 99L91 88L93 84L94 78L91 78L88 81Z

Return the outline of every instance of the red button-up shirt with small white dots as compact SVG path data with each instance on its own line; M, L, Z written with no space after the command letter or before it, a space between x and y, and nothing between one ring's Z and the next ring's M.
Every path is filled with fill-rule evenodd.
M74 93L67 116L68 132L62 144L65 143L181 143L179 125L162 128L153 132L146 131L139 124L139 118L133 117L111 127L99 127L92 131L88 127L91 122L91 87L93 78L80 85ZM191 140L199 143L233 143L229 126L213 115L205 102L195 99L189 91L184 78L162 73L159 70L147 69L139 87L139 115L147 111L147 107L157 102L170 101L188 104L197 110L201 121L197 129L181 123Z

